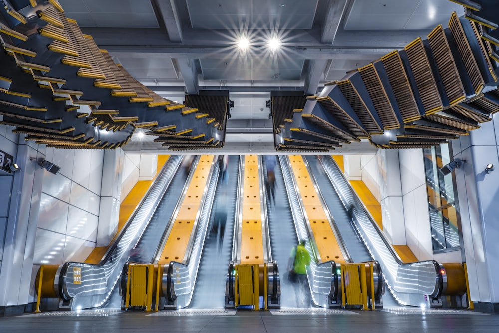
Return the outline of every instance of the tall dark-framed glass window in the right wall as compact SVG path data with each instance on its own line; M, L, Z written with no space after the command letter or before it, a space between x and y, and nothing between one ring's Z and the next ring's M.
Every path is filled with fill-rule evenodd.
M433 250L459 247L453 173L439 170L451 161L447 144L423 149Z

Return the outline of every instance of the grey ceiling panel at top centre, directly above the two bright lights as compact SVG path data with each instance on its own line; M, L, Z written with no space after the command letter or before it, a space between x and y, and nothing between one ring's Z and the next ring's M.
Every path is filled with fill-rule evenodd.
M318 0L186 0L195 29L310 29Z

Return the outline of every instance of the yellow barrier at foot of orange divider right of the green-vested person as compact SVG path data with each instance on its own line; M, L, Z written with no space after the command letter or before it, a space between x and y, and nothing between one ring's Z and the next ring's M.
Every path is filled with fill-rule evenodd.
M341 265L341 305L343 307L361 305L363 310L374 310L373 271L373 263L369 263L369 271L367 271L366 263ZM369 275L370 291L367 288L366 275ZM369 307L368 301L369 294L371 296L371 307Z

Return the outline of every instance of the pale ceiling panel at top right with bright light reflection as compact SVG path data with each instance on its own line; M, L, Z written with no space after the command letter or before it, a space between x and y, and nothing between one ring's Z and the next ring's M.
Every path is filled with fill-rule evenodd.
M449 0L354 0L344 28L433 29L438 24L447 24L453 11L462 13L463 6Z

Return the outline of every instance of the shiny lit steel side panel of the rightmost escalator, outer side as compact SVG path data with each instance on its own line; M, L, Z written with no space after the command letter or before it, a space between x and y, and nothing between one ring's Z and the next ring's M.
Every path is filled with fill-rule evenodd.
M352 223L372 258L379 261L387 286L395 299L403 305L420 306L428 298L425 295L437 295L438 264L435 261L402 263L334 160L323 157L322 164L345 209L351 207Z

